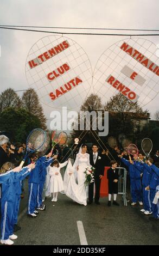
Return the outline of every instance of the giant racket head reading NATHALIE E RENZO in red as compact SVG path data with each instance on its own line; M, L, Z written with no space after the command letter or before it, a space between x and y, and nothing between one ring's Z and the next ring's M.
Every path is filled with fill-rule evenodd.
M156 45L131 38L116 42L101 54L94 69L94 92L103 101L122 93L140 106L158 94L159 59Z

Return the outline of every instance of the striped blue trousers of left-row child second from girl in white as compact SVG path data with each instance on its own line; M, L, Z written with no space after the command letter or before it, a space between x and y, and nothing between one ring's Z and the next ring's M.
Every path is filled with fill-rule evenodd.
M33 214L35 211L38 185L36 183L29 183L28 214Z

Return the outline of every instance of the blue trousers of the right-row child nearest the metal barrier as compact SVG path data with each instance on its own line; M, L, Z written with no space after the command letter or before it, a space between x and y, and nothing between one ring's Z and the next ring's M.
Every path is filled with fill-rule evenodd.
M132 202L136 203L137 201L142 201L142 188L141 188L141 179L131 179L131 197Z

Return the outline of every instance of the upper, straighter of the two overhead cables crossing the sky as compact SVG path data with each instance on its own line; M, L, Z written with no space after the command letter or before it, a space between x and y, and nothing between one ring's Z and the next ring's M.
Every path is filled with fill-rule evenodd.
M135 29L135 28L75 28L75 27L44 27L44 26L16 26L0 25L0 27L19 27L19 28L58 28L58 29L90 29L90 30L109 30L109 31L159 31L159 29Z

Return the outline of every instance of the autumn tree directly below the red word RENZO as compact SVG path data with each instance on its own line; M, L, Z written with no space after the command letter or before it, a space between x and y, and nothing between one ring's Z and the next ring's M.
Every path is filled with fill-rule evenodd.
M111 97L105 104L105 111L109 111L109 131L118 136L124 133L126 136L134 137L134 132L141 129L141 120L148 120L150 114L138 103L133 103L121 93Z

